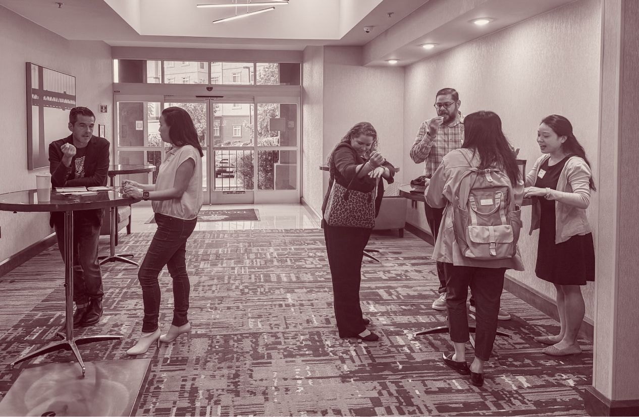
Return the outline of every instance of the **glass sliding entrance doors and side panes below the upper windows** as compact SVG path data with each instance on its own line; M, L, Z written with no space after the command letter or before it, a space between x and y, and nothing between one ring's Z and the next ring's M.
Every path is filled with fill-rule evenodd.
M168 147L158 133L167 107L190 114L204 151L204 204L299 202L299 104L286 98L119 96L116 159L159 169ZM139 136L139 137L138 137ZM137 141L136 141L137 140ZM139 176L139 175L138 175ZM153 182L157 171L132 178Z

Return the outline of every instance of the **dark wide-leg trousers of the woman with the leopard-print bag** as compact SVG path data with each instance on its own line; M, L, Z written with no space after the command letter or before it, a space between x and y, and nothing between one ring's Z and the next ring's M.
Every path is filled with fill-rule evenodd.
M372 229L329 226L322 220L333 283L333 305L339 337L351 337L366 330L360 306L362 257Z

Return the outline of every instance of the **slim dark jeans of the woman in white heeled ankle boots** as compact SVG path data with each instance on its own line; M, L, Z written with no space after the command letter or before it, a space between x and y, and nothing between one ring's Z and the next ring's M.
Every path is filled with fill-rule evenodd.
M144 261L137 271L137 278L142 287L144 302L144 320L142 331L150 333L158 328L160 315L160 284L158 275L166 265L173 278L173 321L174 326L187 324L189 310L189 275L187 274L187 239L196 228L197 218L181 220L171 216L155 213L158 225Z

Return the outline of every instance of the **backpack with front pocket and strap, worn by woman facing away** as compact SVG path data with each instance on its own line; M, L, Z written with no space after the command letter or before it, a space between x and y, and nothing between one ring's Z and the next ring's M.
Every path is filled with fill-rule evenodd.
M468 165L472 163L468 161ZM521 209L514 202L511 180L505 172L497 167L469 167L453 199L453 230L462 255L492 261L517 254Z

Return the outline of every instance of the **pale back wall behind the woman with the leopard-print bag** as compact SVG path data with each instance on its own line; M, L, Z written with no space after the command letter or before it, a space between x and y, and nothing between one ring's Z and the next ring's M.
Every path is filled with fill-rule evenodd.
M318 213L329 178L328 172L319 172L319 165L356 123L370 122L377 130L381 153L401 167L403 91L403 68L362 66L361 47L304 50L303 197ZM397 182L401 174L396 175Z

